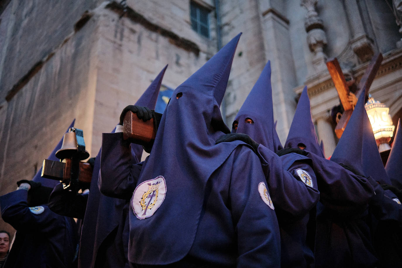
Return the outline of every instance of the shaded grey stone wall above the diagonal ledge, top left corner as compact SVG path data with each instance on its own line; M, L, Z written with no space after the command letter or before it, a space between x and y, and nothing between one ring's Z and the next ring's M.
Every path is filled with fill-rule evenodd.
M18 82L35 72L54 49L62 45L74 32L74 24L85 10L96 7L100 0L78 1L11 1L7 42L4 43L1 62L3 70L0 100L12 98L21 87Z

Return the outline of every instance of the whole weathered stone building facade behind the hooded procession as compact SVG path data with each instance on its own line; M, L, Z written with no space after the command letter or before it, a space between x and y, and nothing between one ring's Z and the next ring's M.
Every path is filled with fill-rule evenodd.
M307 85L328 157L337 142L329 113L339 98L325 61L337 57L343 72L358 81L376 52L384 60L370 93L390 108L396 125L402 113L399 2L4 1L0 194L14 190L17 180L33 177L74 118L84 130L86 149L96 155L101 133L113 129L121 110L141 96L166 64L162 84L175 88L239 32L243 35L222 103L229 126L271 60L281 141Z

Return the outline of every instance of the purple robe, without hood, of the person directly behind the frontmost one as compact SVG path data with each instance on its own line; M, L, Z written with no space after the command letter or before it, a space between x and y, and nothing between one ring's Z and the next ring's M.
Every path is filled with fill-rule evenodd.
M262 145L258 155L278 217L281 267L314 267L315 207L320 192L312 161L297 153L279 157ZM298 170L307 172L311 181L302 181Z

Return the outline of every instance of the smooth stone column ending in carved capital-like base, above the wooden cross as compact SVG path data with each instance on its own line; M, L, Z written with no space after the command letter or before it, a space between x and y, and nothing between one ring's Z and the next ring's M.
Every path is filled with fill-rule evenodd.
M359 6L356 0L345 1L345 6L353 34L351 47L362 62L369 61L374 55L373 40L365 32Z

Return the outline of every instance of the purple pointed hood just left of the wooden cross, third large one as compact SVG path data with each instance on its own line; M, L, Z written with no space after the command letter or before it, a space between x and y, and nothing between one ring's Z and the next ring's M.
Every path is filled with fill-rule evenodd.
M324 157L320 143L318 143L311 116L310 98L308 98L307 86L305 86L303 92L301 92L299 102L297 103L295 116L293 117L285 142L285 148L299 148L297 146L299 143L306 145L306 151Z

